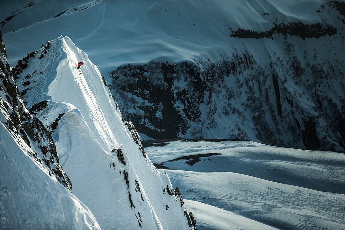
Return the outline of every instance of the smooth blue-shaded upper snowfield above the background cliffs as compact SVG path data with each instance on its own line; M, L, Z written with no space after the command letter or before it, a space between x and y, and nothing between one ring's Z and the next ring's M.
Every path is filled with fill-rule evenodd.
M15 15L1 27L11 66L42 43L63 34L87 52L104 75L128 63L217 61L219 54L237 49L254 51L250 42L234 41L231 29L261 31L274 23L294 21L332 25L331 19L317 13L323 0L30 2L2 2L0 20ZM263 15L267 12L270 14ZM264 45L268 49L274 46Z

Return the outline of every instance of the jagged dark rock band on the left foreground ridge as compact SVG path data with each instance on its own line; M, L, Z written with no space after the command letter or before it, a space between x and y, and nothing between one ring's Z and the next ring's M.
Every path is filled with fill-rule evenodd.
M1 31L0 51L1 55L4 55L6 58L6 51L2 41ZM23 60L25 61L26 58ZM24 64L18 65L15 72L20 71L20 68L23 66ZM0 98L0 104L3 105L4 108L1 109L1 112L3 113L3 116L7 118L3 124L11 133L14 140L22 146L20 141L20 138L22 138L30 148L32 147L36 149L37 152L34 152L31 149L28 150L31 157L42 166L43 163L46 164L48 169L50 169L56 176L60 184L65 186L68 190L71 190L72 184L60 166L53 139L42 122L37 118L33 118L25 108L7 61L5 61L5 63L0 61L0 91L1 94L4 95ZM23 148L25 147L23 146Z

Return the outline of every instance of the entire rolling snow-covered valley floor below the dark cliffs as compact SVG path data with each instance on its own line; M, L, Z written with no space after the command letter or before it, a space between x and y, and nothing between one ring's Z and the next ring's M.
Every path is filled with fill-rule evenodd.
M145 150L154 163L166 162L170 170L159 171L178 185L198 229L222 229L217 218L238 223L236 215L279 229L345 227L344 154L241 141L174 141Z

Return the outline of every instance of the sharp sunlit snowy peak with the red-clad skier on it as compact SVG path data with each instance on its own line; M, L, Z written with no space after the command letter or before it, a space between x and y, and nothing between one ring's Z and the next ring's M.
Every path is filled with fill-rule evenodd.
M97 66L68 37L31 52L12 72L27 108L52 132L73 194L101 228L194 229L178 189L148 159Z

